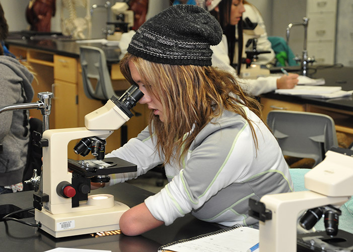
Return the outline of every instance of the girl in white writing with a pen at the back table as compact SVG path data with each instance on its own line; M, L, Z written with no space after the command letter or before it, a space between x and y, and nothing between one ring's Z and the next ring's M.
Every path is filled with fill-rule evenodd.
M242 16L246 10L257 9L243 0L207 0L205 8L220 22L223 30L221 43L211 46L212 66L228 71L234 76L238 73L233 65L238 65L242 55L243 27ZM258 18L262 20L262 18ZM237 31L237 38L236 36ZM269 41L267 41L269 43ZM241 44L239 44L241 43ZM266 48L267 49L267 48ZM240 85L250 95L258 96L276 89L291 89L298 84L298 74L286 74L281 77L268 76L257 79L239 80Z

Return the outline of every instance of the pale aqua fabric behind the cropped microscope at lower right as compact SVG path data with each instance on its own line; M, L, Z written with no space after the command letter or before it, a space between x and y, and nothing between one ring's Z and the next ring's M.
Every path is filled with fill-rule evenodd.
M310 171L310 169L291 168L291 176L294 184L294 191L301 192L307 191L304 185L304 175ZM338 228L340 230L353 233L353 199L348 200L344 205L341 206L340 210L342 215L338 219ZM325 230L323 218L321 218L315 225L316 230Z

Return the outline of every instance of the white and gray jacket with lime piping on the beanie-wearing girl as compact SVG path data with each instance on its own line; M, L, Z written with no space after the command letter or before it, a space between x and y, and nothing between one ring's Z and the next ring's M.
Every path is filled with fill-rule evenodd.
M191 213L197 219L226 226L256 225L258 221L248 215L250 197L293 191L276 139L259 117L247 107L244 110L254 123L258 149L248 122L239 114L223 111L197 134L181 165L165 165L169 183L145 200L156 219L170 225ZM107 154L137 165L137 172L111 174L110 184L135 178L163 163L155 141L146 128Z

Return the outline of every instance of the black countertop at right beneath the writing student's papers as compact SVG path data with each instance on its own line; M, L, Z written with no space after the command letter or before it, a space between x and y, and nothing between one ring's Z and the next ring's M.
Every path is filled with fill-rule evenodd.
M271 73L280 72L275 68ZM289 68L289 72L300 73L296 68ZM310 67L308 71L310 78L324 78L325 86L341 86L342 90L353 90L353 68L343 67L341 65L334 66L314 66ZM281 95L274 92L261 95L265 98L276 100L296 102L296 103L309 103L312 105L325 106L335 109L342 109L353 111L353 96L334 98L334 99L319 99L305 96Z

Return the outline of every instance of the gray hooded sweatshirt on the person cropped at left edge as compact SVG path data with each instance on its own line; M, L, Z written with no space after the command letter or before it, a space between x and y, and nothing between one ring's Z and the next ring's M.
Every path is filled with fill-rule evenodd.
M0 56L0 106L31 102L33 75L20 62L9 56ZM29 125L28 110L0 113L0 185L22 181L26 166Z

